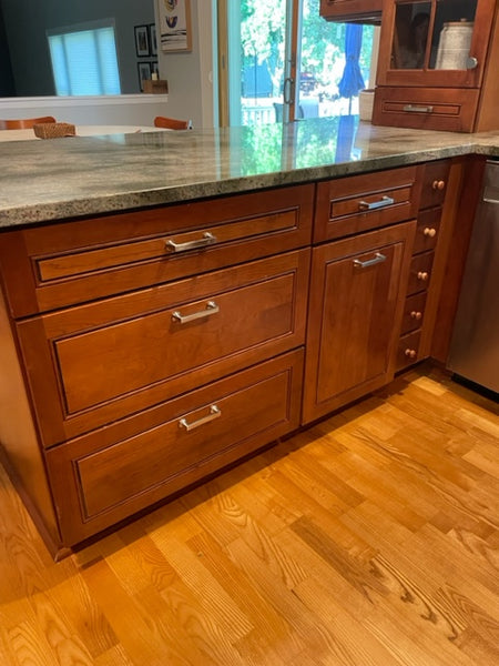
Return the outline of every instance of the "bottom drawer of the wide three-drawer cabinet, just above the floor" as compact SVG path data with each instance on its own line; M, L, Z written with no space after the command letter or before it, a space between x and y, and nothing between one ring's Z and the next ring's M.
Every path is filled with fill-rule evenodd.
M297 350L47 453L65 545L298 426Z

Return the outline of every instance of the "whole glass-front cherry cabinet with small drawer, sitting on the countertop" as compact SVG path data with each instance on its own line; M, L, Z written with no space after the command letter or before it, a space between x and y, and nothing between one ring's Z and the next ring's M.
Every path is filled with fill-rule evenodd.
M499 127L497 0L384 0L373 122Z

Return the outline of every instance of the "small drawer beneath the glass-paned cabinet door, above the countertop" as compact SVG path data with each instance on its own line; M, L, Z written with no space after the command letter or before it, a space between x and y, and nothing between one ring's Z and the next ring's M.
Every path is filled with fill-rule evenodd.
M377 87L373 124L472 132L478 90Z

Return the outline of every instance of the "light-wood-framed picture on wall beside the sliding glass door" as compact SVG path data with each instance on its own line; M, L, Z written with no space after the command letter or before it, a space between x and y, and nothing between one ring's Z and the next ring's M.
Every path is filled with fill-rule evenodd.
M156 0L160 44L163 53L191 51L190 0Z

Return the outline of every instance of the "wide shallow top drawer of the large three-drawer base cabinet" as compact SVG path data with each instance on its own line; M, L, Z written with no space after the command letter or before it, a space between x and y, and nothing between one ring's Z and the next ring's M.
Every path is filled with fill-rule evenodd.
M313 204L310 184L1 234L11 312L54 310L305 246Z

